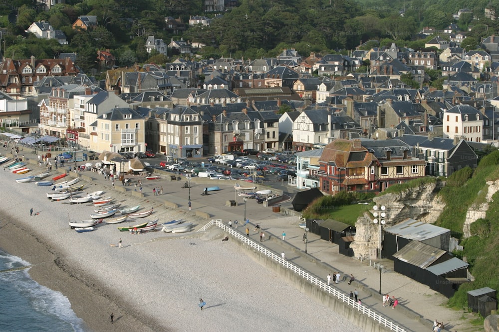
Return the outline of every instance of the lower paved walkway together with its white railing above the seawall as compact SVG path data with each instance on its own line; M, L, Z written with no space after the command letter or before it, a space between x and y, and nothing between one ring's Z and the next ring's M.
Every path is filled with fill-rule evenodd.
M348 278L345 273L341 273L342 278L337 284L331 283L327 285L325 276L332 273L332 271L339 271L334 267L327 266L314 257L301 252L298 248L291 246L286 241L280 240L280 236L270 234L267 230L265 232L265 240L259 242L258 232L254 232L254 225L250 226L250 236L246 235L246 227L239 226L237 228L229 227L221 220L212 220L205 226L201 227L199 231L204 231L211 226L217 226L223 231L229 233L234 240L241 241L254 250L266 255L268 259L277 262L282 267L293 271L295 274L304 278L307 282L311 283L318 289L325 291L330 296L335 297L346 305L353 307L355 310L367 315L373 321L379 323L383 328L388 331L430 331L432 323L418 314L412 312L410 309L402 308L399 304L397 308L383 307L381 304L381 295L376 296L377 292L370 289L367 285L362 285L358 281L354 281L348 285ZM281 252L286 252L286 258L282 259ZM359 291L359 299L361 303L355 303L349 298L350 291L357 289ZM408 315L409 316L408 316Z

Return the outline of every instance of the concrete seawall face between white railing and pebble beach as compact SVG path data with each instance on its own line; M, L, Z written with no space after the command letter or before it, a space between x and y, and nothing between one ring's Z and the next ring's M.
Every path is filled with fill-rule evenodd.
M301 292L307 294L315 301L320 304L327 306L335 313L343 315L350 322L353 322L358 327L362 328L364 331L371 332L384 332L390 331L389 328L383 327L377 322L375 322L372 318L369 318L367 315L362 314L357 311L355 308L349 306L347 303L342 302L341 300L333 297L329 293L324 290L319 289L317 286L310 284L304 278L298 276L293 271L286 269L284 266L280 265L277 261L273 261L268 258L266 255L259 253L254 250L250 246L244 244L241 241L235 241L243 251L253 258L258 263L262 264L266 268L270 268L273 271L277 272L281 277L285 278L286 281L294 285Z

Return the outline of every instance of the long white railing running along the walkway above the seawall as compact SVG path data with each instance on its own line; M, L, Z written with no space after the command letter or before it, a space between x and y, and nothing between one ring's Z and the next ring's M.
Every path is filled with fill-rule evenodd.
M216 225L220 228L222 228L224 231L228 232L231 234L233 237L237 238L241 242L244 242L245 244L248 244L250 247L256 249L257 251L265 254L267 257L270 259L278 262L282 266L284 266L287 269L290 269L300 277L304 278L308 282L312 283L315 286L318 286L320 289L328 292L330 295L336 297L342 302L346 302L349 306L352 306L355 308L357 311L360 311L363 315L367 315L369 318L372 318L375 322L381 324L382 326L390 329L390 331L396 331L396 332L405 332L405 330L395 323L389 321L385 317L381 316L380 314L376 313L375 311L371 310L370 308L364 306L362 303L357 303L354 300L350 299L349 296L346 294L343 294L342 292L338 291L337 289L328 286L327 283L322 281L321 279L315 277L314 275L311 275L307 271L301 269L300 267L296 266L293 263L290 263L289 261L282 259L280 254L275 254L273 251L268 250L267 248L261 246L257 242L253 241L250 237L244 235L243 233L240 233L233 229L232 227L229 227L228 225L224 224L221 219L214 219L210 222L208 222L206 225L204 225L201 229L198 230L204 231L208 229L210 226Z

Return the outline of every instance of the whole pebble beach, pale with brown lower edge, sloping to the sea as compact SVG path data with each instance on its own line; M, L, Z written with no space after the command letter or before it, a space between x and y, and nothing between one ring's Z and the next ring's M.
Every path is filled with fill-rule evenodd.
M8 171L0 177L0 249L29 262L35 281L66 296L87 331L362 331L240 252L232 240L221 241L225 235L216 227L181 234L118 231L142 222L135 220L76 233L68 221L90 219L93 206L52 202L45 195L50 187L16 183L21 176ZM208 222L98 181L86 183L85 192L97 190L122 207L154 207L146 220L184 219L196 228ZM29 216L30 208L37 215ZM202 311L200 298L207 303Z

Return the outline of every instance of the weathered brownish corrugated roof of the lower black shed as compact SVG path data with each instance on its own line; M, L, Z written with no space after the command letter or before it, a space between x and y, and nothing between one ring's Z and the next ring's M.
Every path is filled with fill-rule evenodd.
M405 247L397 251L393 257L403 262L419 266L422 269L426 269L445 253L445 250L435 248L431 245L419 241L411 241Z

